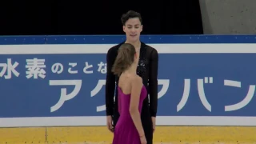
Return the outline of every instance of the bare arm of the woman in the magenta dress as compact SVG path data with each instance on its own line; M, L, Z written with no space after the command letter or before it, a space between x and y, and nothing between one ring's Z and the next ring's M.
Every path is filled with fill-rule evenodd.
M142 127L141 114L138 111L138 104L142 90L142 78L136 77L131 82L130 94L130 116L133 119L134 125L138 130L139 136L144 135Z

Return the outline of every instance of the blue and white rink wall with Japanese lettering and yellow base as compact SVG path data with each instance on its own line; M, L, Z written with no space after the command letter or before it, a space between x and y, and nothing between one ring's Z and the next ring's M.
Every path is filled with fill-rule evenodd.
M106 52L124 36L0 37L0 143L106 142ZM155 143L256 142L256 36L143 35L158 50Z

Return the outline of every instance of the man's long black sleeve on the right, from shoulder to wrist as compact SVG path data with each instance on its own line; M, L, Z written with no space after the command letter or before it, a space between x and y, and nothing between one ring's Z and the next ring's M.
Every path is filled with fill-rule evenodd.
M156 117L158 111L158 51L153 48L150 55L150 114Z

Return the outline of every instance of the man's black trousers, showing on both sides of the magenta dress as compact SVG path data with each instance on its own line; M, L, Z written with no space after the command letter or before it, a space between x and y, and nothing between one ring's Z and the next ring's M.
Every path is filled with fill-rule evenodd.
M114 109L113 125L116 126L119 118L118 108ZM142 106L142 126L146 137L147 144L153 144L153 123L150 116L150 106L143 103Z

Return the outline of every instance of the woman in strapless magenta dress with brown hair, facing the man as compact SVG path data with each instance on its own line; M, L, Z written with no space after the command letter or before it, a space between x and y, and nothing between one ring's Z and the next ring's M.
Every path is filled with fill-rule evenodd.
M112 72L118 80L118 112L120 117L114 128L113 144L146 144L142 127L141 110L146 98L146 87L136 74L138 54L129 43L118 50Z

